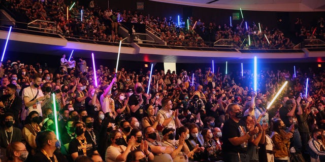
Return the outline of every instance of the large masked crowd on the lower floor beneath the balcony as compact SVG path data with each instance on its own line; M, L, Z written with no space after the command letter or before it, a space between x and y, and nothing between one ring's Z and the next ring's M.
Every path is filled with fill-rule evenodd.
M220 75L210 68L154 69L149 83L150 71L115 73L103 65L94 78L83 58L68 61L64 54L57 73L7 60L0 70L0 157L323 161L325 71L275 70L259 71L253 91L251 74Z

